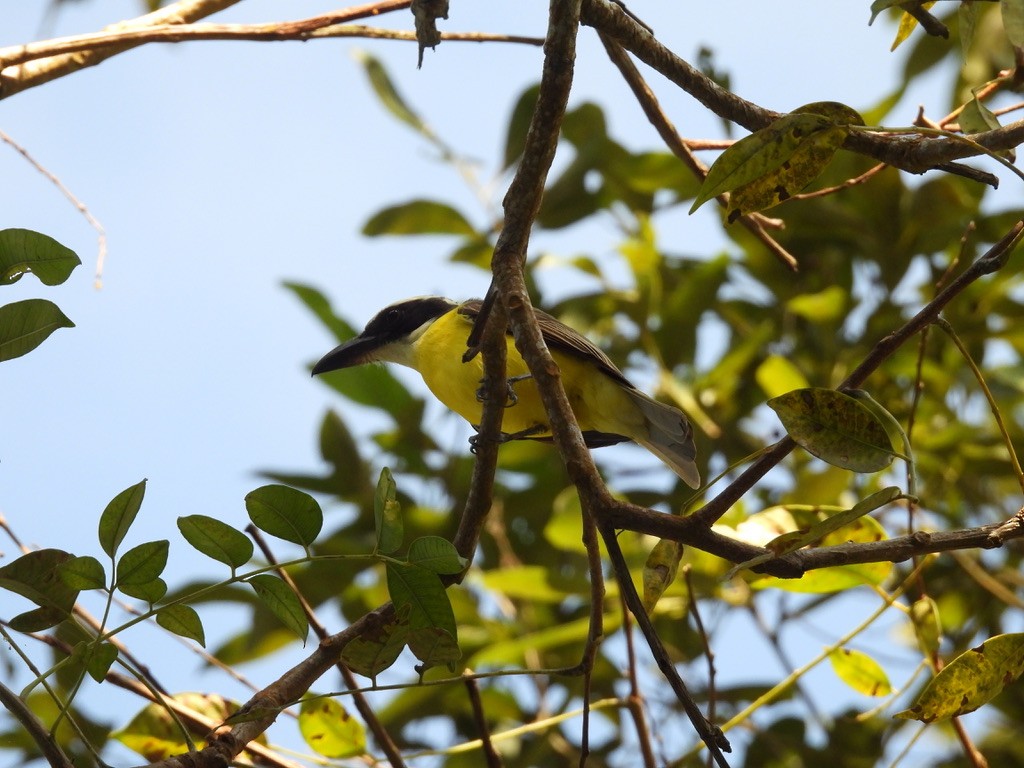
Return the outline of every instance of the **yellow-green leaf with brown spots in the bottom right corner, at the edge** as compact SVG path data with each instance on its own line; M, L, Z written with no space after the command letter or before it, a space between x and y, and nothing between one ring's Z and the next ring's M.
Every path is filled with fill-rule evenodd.
M994 698L1022 672L1024 634L996 635L943 667L913 706L894 717L933 723L967 715Z

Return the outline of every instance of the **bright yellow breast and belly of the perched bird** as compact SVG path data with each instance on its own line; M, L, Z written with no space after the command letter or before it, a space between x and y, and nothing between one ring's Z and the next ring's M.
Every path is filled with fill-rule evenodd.
M480 355L469 362L462 361L471 328L472 319L458 311L441 315L414 342L413 367L437 399L470 424L477 425L483 413L483 406L476 398L483 378L483 361ZM529 371L512 337L507 336L506 340L506 376L527 375ZM562 386L582 430L630 438L646 436L643 416L622 384L582 357L558 350L552 351L552 357L558 365ZM502 431L537 430L530 435L534 437L550 434L548 416L534 381L526 379L512 386L517 399L505 411Z

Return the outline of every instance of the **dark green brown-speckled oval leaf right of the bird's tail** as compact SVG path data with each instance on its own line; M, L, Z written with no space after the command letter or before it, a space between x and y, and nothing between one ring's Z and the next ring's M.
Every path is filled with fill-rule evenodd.
M807 388L773 397L768 407L805 451L854 472L878 472L895 456L885 426L856 398Z

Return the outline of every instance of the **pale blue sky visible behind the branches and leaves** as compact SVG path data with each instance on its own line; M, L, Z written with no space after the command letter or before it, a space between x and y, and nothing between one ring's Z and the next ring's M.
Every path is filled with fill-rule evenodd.
M41 31L44 3L6 2L0 45L96 31L140 5L69 3ZM684 57L713 47L737 92L771 109L824 98L866 109L898 80L893 28L868 28L866 3L630 5ZM247 0L212 20L335 7ZM546 8L539 0L454 3L442 29L540 36ZM410 22L395 14L382 25ZM181 542L174 520L201 513L244 525L243 497L261 484L257 470L314 469L325 410L355 413L309 378L307 366L332 339L282 282L321 288L358 326L395 299L483 292L484 273L444 261L443 239L359 236L377 209L418 197L447 200L477 221L485 214L422 140L384 114L350 55L356 48L382 58L433 129L493 179L514 99L540 72L538 49L445 43L417 71L415 46L397 42L147 46L0 102L0 129L60 177L110 240L97 291L92 229L0 145L0 225L50 234L84 262L58 288L26 278L0 295L0 303L49 298L76 323L0 366L0 513L24 541L96 554L100 511L147 477L128 543L171 539L172 584L197 569L216 572ZM589 30L578 72L573 103L597 100L614 136L656 145ZM720 135L717 119L689 97L656 76L651 83L685 135ZM919 100L933 114L945 108L914 94L892 122L908 124ZM504 183L493 187L493 203ZM662 237L674 251L711 252L724 247L716 221L710 206L693 217L680 211ZM609 221L540 233L534 253L609 255L614 244ZM564 280L547 278L553 287ZM454 429L440 412L436 419ZM0 593L0 614L13 612L10 599Z

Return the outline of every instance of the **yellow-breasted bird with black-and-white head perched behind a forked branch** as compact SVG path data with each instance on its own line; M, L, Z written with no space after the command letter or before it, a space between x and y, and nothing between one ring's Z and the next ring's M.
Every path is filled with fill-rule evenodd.
M381 309L354 338L324 355L314 376L370 362L394 362L417 371L446 408L474 427L483 406L479 355L463 360L466 341L480 312L479 299L457 302L418 296ZM578 331L534 310L541 334L558 365L562 386L589 447L633 441L652 453L689 486L700 486L693 428L678 409L637 389L608 356ZM509 394L502 420L504 439L551 440L551 427L537 384L508 332Z

